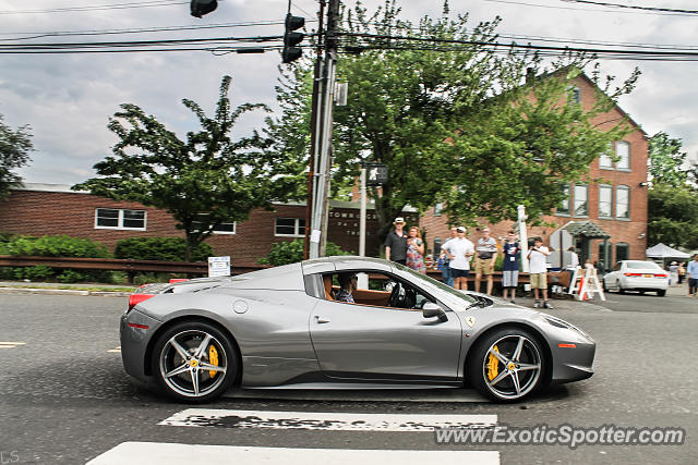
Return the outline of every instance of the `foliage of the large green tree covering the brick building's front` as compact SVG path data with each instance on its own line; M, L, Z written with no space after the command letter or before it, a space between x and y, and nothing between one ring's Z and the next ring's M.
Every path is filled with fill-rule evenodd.
M393 0L373 12L357 3L342 15L340 50L354 53L337 62L349 99L335 110L333 183L335 191L353 183L360 157L387 164L389 181L371 194L380 234L408 205L424 211L443 201L454 222L515 218L519 204L530 217L550 212L562 200L559 184L583 176L627 131L624 121L601 131L592 119L631 90L637 71L612 88L594 68L598 100L582 109L564 102L591 59L568 54L551 64L557 73L525 85L527 75L545 71L542 61L488 47L498 17L470 27L467 15L452 19L445 3L441 17L411 23ZM440 41L416 45L423 39ZM297 76L310 65L303 70ZM296 88L305 83L296 81ZM306 100L287 105L302 112Z

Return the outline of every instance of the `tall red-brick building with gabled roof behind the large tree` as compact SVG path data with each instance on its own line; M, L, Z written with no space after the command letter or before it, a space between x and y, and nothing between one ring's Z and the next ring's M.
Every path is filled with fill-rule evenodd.
M594 84L583 74L574 79L574 96L589 110L593 105ZM593 122L603 130L618 120L628 118L619 108L598 115ZM591 222L605 233L604 241L578 233L574 244L579 250L580 260L589 258L600 267L604 267L604 259L613 264L622 259L645 259L647 249L647 161L648 137L642 129L631 119L629 124L634 129L623 140L613 145L614 157L602 156L595 160L587 175L588 180L602 179L602 182L579 182L567 186L569 197L561 208L543 218L546 223L554 223L555 228L530 228L529 237L540 235L546 244L551 234L558 228L564 228L570 221L576 224ZM618 157L617 162L613 158ZM481 224L486 224L484 221ZM494 237L506 235L513 222L505 221L488 224ZM420 227L428 231L429 248L437 252L443 241L450 236L448 218L440 213L440 206L430 209L420 220ZM479 237L474 229L469 231L470 238Z

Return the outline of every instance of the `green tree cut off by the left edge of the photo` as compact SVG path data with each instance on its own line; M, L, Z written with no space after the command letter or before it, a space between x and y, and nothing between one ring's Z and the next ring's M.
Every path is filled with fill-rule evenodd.
M12 130L4 124L0 114L0 199L10 195L13 187L22 184L22 178L14 172L29 162L34 149L29 126Z

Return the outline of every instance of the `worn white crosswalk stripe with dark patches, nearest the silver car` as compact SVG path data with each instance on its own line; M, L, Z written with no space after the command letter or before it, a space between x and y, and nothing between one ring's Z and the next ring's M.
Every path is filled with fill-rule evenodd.
M345 414L188 408L159 425L329 431L433 431L435 428L494 426L496 415Z

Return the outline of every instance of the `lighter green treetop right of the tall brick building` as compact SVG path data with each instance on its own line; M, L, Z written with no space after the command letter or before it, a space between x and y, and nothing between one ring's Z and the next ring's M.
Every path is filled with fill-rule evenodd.
M653 184L685 186L689 179L682 140L659 132L649 142L649 174Z

